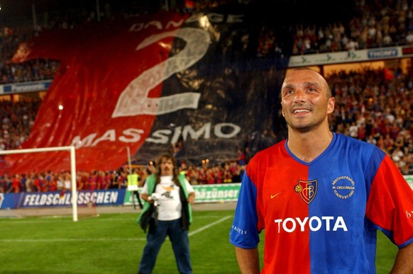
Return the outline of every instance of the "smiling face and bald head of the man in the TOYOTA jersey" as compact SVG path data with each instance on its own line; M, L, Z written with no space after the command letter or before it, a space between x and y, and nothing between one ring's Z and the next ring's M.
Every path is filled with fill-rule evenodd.
M311 70L294 71L285 77L281 90L282 115L292 130L309 132L328 127L334 98L323 77Z

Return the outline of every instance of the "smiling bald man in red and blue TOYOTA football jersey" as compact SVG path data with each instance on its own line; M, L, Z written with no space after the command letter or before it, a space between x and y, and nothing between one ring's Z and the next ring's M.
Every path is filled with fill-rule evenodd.
M329 130L334 97L312 69L282 84L288 138L246 166L230 231L241 273L375 273L380 229L413 273L413 190L373 144Z

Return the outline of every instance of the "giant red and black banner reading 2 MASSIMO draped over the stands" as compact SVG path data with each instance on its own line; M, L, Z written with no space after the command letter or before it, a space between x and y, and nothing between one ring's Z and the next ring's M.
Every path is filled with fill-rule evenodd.
M74 145L77 169L106 171L125 164L128 149L138 164L171 148L179 161L220 164L268 147L269 132L284 130L277 94L288 55L257 55L262 16L237 4L41 33L11 60L60 60L23 149ZM6 167L62 171L70 157L15 154Z

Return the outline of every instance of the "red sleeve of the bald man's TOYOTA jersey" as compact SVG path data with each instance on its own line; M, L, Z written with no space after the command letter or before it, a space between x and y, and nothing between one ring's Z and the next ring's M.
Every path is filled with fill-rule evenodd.
M413 190L387 155L373 178L366 217L399 248L413 242Z

